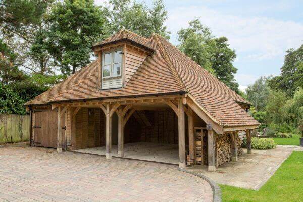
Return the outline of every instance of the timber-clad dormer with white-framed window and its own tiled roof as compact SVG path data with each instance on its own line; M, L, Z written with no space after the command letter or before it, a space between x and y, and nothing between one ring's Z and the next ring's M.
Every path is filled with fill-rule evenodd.
M150 41L126 29L93 45L98 57L98 88L123 88L144 62L154 52Z

